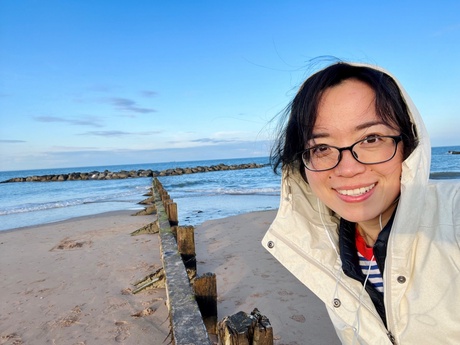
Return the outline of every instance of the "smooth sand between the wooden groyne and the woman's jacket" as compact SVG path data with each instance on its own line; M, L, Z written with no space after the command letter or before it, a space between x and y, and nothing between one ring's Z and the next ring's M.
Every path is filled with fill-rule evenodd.
M276 345L338 345L324 303L260 243L275 215L247 213L196 228L197 270L216 274L218 320L258 308Z

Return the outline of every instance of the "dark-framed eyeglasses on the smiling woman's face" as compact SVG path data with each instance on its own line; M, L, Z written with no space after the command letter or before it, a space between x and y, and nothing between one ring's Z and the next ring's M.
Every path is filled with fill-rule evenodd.
M302 162L310 171L334 169L342 160L342 152L350 151L362 164L379 164L391 160L402 135L372 135L348 147L317 145L301 152Z

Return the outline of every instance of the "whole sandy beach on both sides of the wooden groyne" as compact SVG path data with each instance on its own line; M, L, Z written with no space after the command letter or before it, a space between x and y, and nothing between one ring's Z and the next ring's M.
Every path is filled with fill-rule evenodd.
M218 320L258 308L275 344L339 344L325 307L261 246L276 211L195 228L198 275L217 276ZM0 344L169 344L165 289L133 295L161 267L154 216L117 211L0 232Z

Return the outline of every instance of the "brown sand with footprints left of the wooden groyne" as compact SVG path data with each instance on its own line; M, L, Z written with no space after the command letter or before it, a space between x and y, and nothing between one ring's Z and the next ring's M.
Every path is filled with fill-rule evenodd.
M162 266L131 213L0 232L0 344L169 343L165 289L129 292Z

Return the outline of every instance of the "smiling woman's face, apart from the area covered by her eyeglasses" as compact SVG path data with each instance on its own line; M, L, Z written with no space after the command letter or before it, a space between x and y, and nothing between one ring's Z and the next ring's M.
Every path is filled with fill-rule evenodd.
M312 140L307 146L327 144L348 147L369 135L399 135L376 114L374 91L365 83L347 79L326 89L320 98ZM329 208L351 222L378 224L387 219L400 192L403 160L402 143L388 162L364 165L350 151L334 169L313 172L305 169L316 196Z

